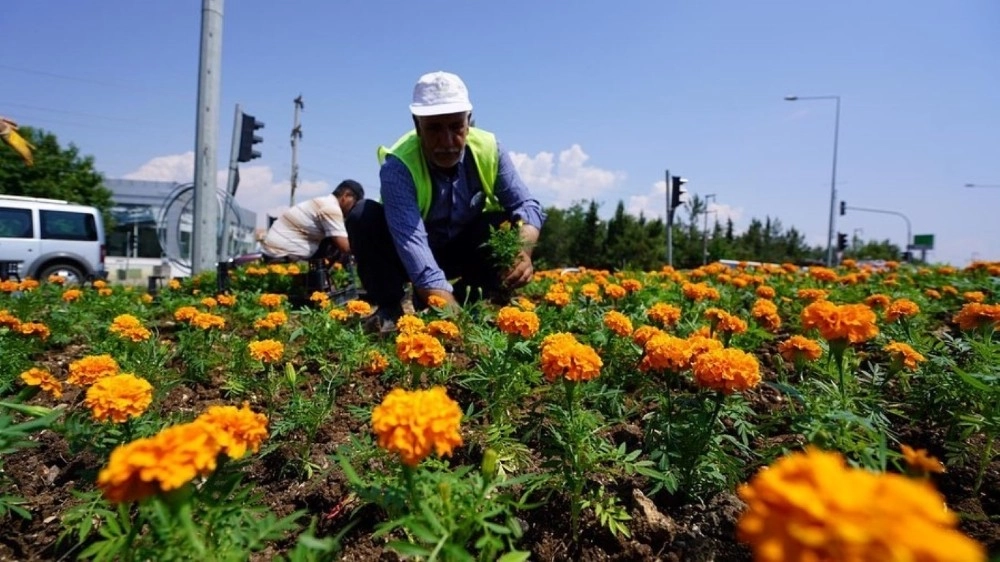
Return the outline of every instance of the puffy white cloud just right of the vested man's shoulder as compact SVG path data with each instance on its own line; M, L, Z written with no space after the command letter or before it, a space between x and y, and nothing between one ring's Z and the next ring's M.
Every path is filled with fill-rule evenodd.
M578 144L559 153L539 152L529 156L511 152L521 179L543 205L567 207L575 201L600 199L625 180L625 172L604 170L587 164L590 156Z

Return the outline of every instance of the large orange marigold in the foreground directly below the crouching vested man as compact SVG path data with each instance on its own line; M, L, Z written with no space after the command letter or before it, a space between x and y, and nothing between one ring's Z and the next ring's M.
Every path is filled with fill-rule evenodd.
M372 429L379 447L398 454L409 467L420 464L431 452L451 456L462 444L461 421L462 409L440 386L393 389L372 410Z

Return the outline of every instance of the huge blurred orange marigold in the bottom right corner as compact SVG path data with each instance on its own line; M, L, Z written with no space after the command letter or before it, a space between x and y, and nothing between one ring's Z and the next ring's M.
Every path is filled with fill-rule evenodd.
M741 541L759 562L984 562L924 481L850 468L814 448L787 455L738 490Z

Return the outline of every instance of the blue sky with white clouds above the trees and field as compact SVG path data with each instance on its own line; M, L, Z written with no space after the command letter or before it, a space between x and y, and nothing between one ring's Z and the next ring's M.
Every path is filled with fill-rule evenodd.
M375 149L410 126L423 73L468 84L545 205L594 198L662 216L664 169L738 228L777 218L826 242L833 101L838 195L935 234L935 261L1000 260L1000 2L229 0L219 162L233 108L266 123L237 199L296 200L343 178L378 192ZM190 181L201 2L6 0L0 114L93 155L107 177ZM902 244L903 219L837 230ZM700 221L699 221L700 224Z

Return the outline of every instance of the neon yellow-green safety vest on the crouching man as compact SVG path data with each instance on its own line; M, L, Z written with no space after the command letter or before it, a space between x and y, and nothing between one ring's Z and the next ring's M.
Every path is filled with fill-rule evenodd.
M497 139L493 133L469 128L469 135L466 137L466 145L472 151L472 158L476 164L476 173L479 174L479 181L483 184L483 194L486 196L486 210L498 211L502 207L493 194L493 187L496 185L497 173L500 169L500 153L497 149ZM431 209L431 197L433 186L431 173L427 168L427 160L423 151L420 150L420 137L416 131L406 133L392 148L380 146L378 148L378 163L385 163L385 157L392 154L399 161L406 165L413 177L413 186L417 191L417 207L420 209L420 216L427 218L427 213Z

